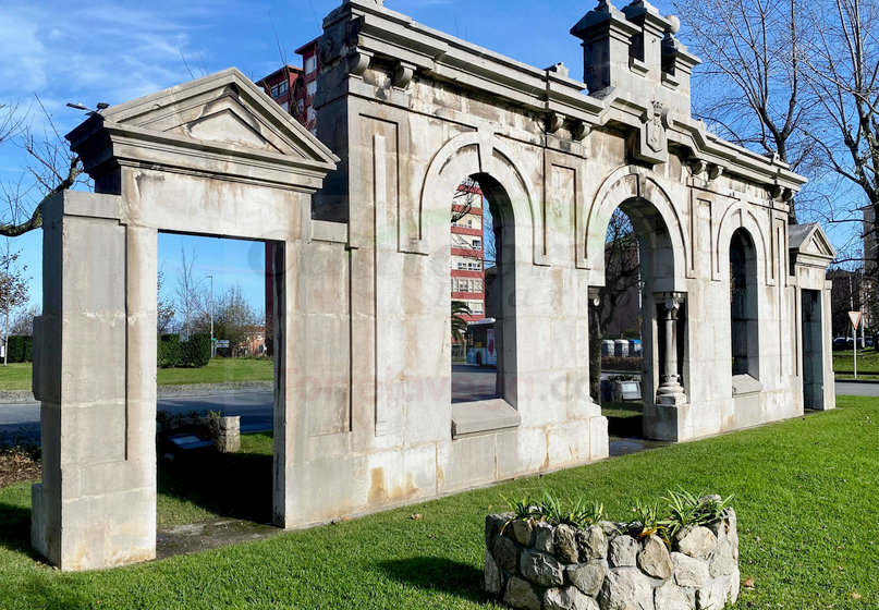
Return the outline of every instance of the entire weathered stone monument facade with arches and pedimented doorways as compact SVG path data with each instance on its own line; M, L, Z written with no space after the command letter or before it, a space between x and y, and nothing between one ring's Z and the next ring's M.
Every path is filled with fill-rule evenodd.
M62 570L155 557L159 231L271 248L279 527L606 457L588 308L618 207L640 244L648 437L832 407L834 254L786 225L804 179L692 119L676 28L600 2L572 29L579 82L346 0L318 42L317 138L234 69L94 113L68 137L96 193L45 211L37 550ZM466 178L496 218L498 398L452 404Z

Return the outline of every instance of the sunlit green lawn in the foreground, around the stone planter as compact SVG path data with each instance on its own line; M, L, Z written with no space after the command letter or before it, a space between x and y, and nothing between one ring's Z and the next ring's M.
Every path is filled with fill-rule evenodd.
M626 520L636 499L654 501L679 486L735 495L742 578L755 583L736 609L872 609L879 607L879 401L842 398L839 405L337 525L87 574L36 562L28 486L0 489L0 609L496 608L480 590L483 532L485 515L504 510L501 495L544 488L584 495ZM268 455L267 437L253 442ZM254 467L263 477L270 462ZM159 502L164 523L225 510L199 497L187 514L169 489ZM424 517L410 518L415 512Z

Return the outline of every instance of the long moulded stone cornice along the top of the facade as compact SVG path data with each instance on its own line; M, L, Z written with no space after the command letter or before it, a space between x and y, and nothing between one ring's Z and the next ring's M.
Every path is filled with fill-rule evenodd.
M347 0L325 20L325 29L339 27L340 22L351 23L345 26L346 44L337 44L340 53L363 50L386 61L402 60L428 77L478 89L532 111L561 114L589 127L613 121L639 129L640 117L651 103L612 87L589 96L579 81L429 28L375 2ZM722 166L728 174L770 188L796 192L806 182L785 163L710 134L704 123L688 117L674 115L668 138L688 148L694 159Z

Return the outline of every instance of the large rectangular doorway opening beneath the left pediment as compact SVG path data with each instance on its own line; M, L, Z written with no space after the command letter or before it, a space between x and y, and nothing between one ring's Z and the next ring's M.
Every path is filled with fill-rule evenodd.
M174 525L272 521L279 251L272 243L159 233L160 554L162 532Z

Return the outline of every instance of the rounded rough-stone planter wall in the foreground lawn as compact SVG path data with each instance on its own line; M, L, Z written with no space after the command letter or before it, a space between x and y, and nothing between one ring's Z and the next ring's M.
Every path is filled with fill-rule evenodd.
M486 591L526 610L721 610L738 598L735 511L675 536L486 517Z

